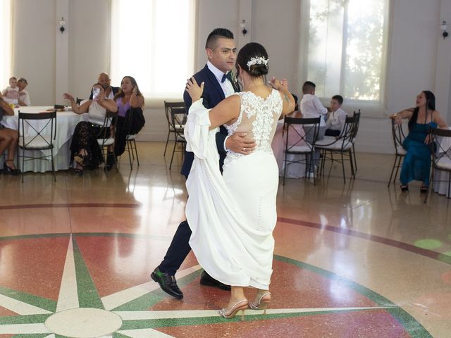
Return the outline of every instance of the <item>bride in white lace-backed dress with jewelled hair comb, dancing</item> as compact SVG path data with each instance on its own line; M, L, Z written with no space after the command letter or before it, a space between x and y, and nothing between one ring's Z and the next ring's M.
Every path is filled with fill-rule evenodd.
M271 301L268 290L278 189L271 141L280 114L295 108L286 80L272 78L271 87L266 84L268 54L264 46L243 46L236 67L243 91L211 110L202 106L204 82L199 87L192 77L186 86L193 104L185 137L187 150L195 155L186 183L190 246L209 275L232 287L228 306L220 311L225 318L233 318L239 311L244 315L248 307L266 311ZM247 156L229 151L223 176L214 139L219 125L226 125L229 134L246 132L257 142ZM257 289L254 301L247 301L244 287Z

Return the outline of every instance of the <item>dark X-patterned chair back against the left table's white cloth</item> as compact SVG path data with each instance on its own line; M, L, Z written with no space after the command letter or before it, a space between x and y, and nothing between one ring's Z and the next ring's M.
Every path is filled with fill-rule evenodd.
M56 138L56 111L21 113L19 111L19 146L23 149L53 149Z

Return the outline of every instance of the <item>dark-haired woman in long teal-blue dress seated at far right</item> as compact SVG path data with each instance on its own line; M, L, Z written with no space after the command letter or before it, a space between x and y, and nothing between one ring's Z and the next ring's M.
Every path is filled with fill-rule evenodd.
M435 111L435 96L424 90L416 96L415 108L405 109L390 116L395 123L402 123L403 118L409 119L409 134L402 142L407 154L401 168L401 190L407 192L412 180L421 181L421 192L428 191L429 173L431 171L431 150L429 146L429 128L447 129L445 120Z

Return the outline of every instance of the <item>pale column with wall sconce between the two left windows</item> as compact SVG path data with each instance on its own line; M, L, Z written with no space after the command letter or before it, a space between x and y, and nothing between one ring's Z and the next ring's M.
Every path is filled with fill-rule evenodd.
M64 18L64 32L60 31L60 20ZM56 0L55 18L55 103L63 104L63 93L69 86L69 0Z

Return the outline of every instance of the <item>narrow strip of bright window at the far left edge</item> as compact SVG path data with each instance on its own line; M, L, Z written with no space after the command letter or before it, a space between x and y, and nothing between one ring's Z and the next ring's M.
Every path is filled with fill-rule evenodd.
M0 1L0 90L11 77L11 0Z

